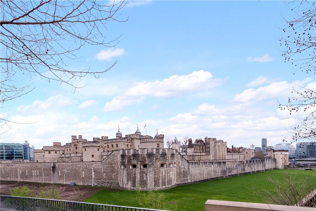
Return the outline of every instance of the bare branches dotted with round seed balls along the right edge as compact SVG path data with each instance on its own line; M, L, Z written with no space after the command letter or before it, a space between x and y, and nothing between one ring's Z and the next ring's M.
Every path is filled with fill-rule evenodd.
M296 5L296 1L290 2ZM292 20L286 20L286 25L282 28L286 34L280 39L280 47L285 62L295 65L298 70L307 74L316 73L316 5L313 1L301 0L301 2L291 9ZM295 73L293 73L295 75ZM281 110L288 110L290 115L297 114L299 124L291 125L292 142L309 141L316 138L316 92L315 87L293 86L293 96L288 98L287 103L281 103ZM302 119L299 113L307 113ZM286 140L283 140L286 141Z

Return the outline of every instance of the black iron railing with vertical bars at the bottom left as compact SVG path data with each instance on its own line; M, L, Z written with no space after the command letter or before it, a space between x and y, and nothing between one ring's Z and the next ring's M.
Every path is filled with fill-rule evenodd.
M0 195L0 211L162 211L108 204Z

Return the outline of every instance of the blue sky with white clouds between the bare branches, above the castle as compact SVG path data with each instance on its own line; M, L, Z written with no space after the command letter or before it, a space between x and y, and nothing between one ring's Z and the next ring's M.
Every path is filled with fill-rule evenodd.
M101 70L99 79L66 84L33 78L36 86L3 108L15 124L2 142L28 140L36 148L70 142L71 135L115 137L147 124L147 134L204 138L227 145L268 146L290 137L297 117L278 109L290 84L312 86L315 79L284 63L279 38L292 4L281 1L131 1L121 19L109 22L113 48L84 46L70 69Z

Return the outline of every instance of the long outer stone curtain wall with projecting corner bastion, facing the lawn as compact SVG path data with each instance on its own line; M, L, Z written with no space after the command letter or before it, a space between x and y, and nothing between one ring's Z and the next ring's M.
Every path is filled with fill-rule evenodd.
M133 165L136 165L134 168ZM93 168L93 170L92 170ZM104 186L135 190L233 177L276 168L276 160L188 161L174 149L116 150L101 162L2 163L1 180ZM92 172L93 171L93 172ZM93 178L94 174L94 178Z

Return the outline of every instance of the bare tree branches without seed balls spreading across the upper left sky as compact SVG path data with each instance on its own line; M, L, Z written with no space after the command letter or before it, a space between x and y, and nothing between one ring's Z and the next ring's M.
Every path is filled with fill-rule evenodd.
M0 105L34 89L33 78L56 81L76 88L72 79L99 77L117 61L99 70L72 70L66 59L77 59L84 45L113 47L106 39L106 23L119 20L126 2L109 5L96 0L1 1L1 98ZM8 116L2 122L10 122Z

